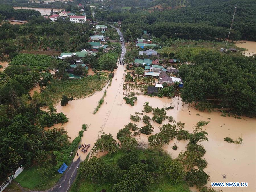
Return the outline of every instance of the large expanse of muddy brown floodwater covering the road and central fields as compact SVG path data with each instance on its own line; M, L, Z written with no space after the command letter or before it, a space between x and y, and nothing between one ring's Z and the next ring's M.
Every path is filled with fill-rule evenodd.
M143 110L143 103L150 102L151 106L164 107L175 106L174 109L168 110L167 114L174 117L176 122L185 123L185 130L192 132L193 126L200 121L210 121L208 125L203 127L203 130L207 131L209 141L202 142L201 144L207 151L204 158L209 165L205 168L211 177L207 186L210 186L210 182L248 182L248 187L222 187L223 191L255 191L255 118L242 117L242 119L235 119L234 117L222 117L220 112L200 112L193 108L189 108L185 104L184 110L182 110L181 98L158 98L144 95L138 95L138 101L134 106L125 104L123 94L123 78L125 75L125 67L119 65L115 70L115 77L112 80L112 84L107 88L107 94L104 98L104 103L100 107L99 111L93 115L92 112L97 106L98 101L103 95L104 90L96 92L90 97L86 97L80 100L73 100L66 106L56 105L58 112L63 112L69 118L69 122L65 123L63 127L67 130L70 140L72 141L78 136L78 132L82 129L82 124L89 125L87 131L84 131L82 137L82 143L91 144L89 150L92 149L95 141L100 135L105 133L111 133L116 139L116 134L119 129L122 129L125 124L131 122L130 114L135 112L141 112ZM117 80L115 80L117 79ZM199 115L196 115L199 113ZM152 114L149 113L152 117ZM210 118L210 120L208 119ZM165 120L164 123L168 123ZM138 127L144 126L142 120L137 123ZM154 126L154 133L159 132L159 124L152 122ZM61 124L55 125L60 127ZM230 144L223 140L224 137L231 137L236 139L243 137L244 144ZM148 137L141 134L136 136L138 142L147 143ZM177 143L179 147L177 151L172 149L174 143ZM186 144L188 141L177 141L174 139L170 141L170 144L164 147L164 150L168 151L173 158L176 158L181 151L186 150ZM81 160L86 158L87 154L78 151ZM105 153L104 153L105 154ZM77 159L77 156L74 160ZM222 175L226 175L226 179ZM191 188L195 191L195 188Z

